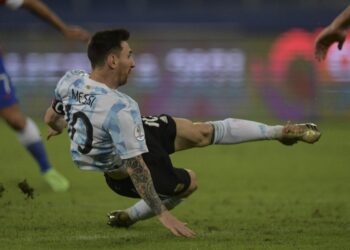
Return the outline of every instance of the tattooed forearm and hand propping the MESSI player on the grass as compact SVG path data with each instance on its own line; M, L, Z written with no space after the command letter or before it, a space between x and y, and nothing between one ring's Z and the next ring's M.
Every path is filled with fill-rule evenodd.
M140 197L150 206L160 222L176 236L193 237L194 232L176 219L162 204L142 156L126 159L125 167Z

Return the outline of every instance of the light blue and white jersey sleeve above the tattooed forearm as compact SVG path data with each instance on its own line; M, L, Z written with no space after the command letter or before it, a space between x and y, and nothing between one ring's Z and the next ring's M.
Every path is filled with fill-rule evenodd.
M121 102L117 103L108 117L107 129L121 159L148 152L138 106L131 108Z

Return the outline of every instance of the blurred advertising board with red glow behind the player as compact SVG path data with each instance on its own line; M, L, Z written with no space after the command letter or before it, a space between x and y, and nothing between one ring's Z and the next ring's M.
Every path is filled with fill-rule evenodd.
M332 47L320 63L313 56L316 31L130 30L136 68L121 91L136 99L145 115L303 121L350 114L349 43L341 52ZM85 46L52 31L22 32L24 40L10 30L1 38L3 56L23 107L41 117L64 72L90 66Z

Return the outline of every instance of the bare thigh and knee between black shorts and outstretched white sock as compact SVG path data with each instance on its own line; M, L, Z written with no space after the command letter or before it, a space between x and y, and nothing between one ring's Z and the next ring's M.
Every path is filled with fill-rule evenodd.
M174 118L176 123L175 151L211 144L213 126L204 122L192 122L184 118Z

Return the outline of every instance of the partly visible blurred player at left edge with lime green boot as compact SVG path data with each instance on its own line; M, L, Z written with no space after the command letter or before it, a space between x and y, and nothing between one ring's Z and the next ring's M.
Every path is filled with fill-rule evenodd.
M68 26L40 0L0 0L0 5L11 9L23 8L51 24L64 36L80 41L90 37L85 30ZM48 161L39 130L33 120L26 117L20 109L15 89L7 74L0 53L0 117L17 133L19 142L37 161L45 181L54 191L65 191L69 188L68 180L55 170Z

